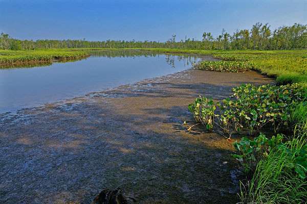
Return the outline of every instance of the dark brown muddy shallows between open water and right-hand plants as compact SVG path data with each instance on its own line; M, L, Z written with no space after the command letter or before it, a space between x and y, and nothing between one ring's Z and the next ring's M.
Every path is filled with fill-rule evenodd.
M233 141L181 123L199 95L222 100L234 86L272 81L188 69L2 114L0 203L91 203L116 187L141 203L235 203Z

